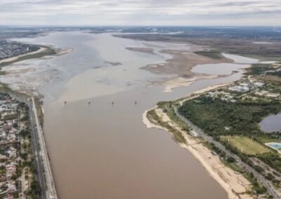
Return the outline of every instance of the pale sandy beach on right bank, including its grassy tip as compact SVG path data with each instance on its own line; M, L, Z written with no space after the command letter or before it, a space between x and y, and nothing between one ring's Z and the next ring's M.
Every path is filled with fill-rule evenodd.
M176 101L181 103L185 100L197 97L200 93L218 89L226 85L228 84L210 86L209 88L198 90L197 92L188 95L188 97ZM151 116L151 112L155 115ZM187 149L192 156L202 164L209 175L223 187L228 193L228 198L253 198L246 193L249 190L251 183L244 178L242 174L237 174L234 170L230 169L230 167L226 167L226 165L221 162L220 158L211 153L211 151L203 144L202 139L188 135L178 123L174 122L168 114L163 111L163 109L156 106L145 111L143 114L143 123L145 123L148 128L158 128L169 132L176 142L178 142L183 149ZM182 136L181 140L175 138L176 134Z

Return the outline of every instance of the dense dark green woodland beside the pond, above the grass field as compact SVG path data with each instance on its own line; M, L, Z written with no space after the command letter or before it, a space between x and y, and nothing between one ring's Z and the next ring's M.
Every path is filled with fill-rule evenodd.
M200 96L184 102L178 111L211 136L257 135L258 123L270 114L281 111L281 102L226 102Z

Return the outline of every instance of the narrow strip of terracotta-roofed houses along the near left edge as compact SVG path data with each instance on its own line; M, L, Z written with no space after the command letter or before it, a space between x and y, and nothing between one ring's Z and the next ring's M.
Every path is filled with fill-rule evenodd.
M18 104L8 94L0 93L0 197L5 199L13 198L13 193L17 191Z

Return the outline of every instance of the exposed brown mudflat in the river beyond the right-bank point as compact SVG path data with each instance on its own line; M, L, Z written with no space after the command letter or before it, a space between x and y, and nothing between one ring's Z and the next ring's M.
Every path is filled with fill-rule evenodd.
M221 58L216 59L207 57L195 53L197 50L202 50L204 46L195 46L190 44L185 50L172 50L162 49L158 53L163 53L171 56L164 62L159 64L147 64L140 69L150 71L154 74L175 74L176 77L166 78L163 81L158 81L155 84L164 85L163 92L172 92L174 88L180 88L189 86L201 79L219 78L226 75L215 75L215 74L198 74L192 71L193 67L199 64L222 64L222 63L233 63L234 60L224 57L222 54ZM153 48L133 48L127 47L126 50L137 51L141 53L148 53L150 55L157 55ZM152 83L153 85L154 83Z

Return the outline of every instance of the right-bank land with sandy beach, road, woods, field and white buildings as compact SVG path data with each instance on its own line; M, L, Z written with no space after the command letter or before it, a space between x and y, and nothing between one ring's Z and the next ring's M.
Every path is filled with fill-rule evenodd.
M280 122L263 130L280 117L280 72L278 63L252 64L240 81L159 102L144 122L168 131L229 198L281 198Z

